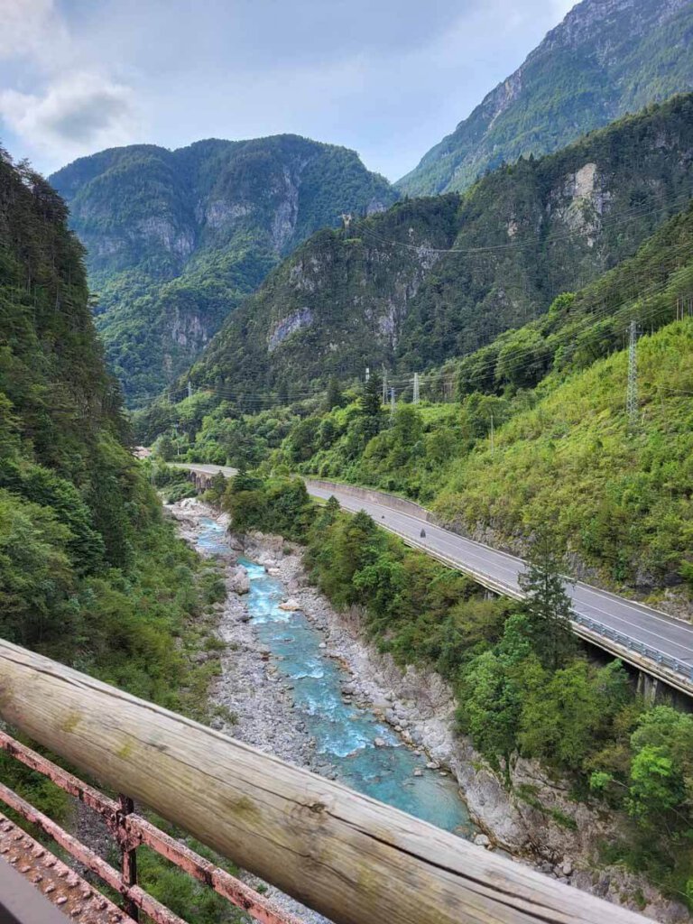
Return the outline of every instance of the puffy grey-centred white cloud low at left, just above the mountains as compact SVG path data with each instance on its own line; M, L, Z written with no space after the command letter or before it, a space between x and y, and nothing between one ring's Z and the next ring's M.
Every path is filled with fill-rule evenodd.
M139 128L131 91L89 72L57 79L43 95L1 91L0 116L19 138L58 159L126 144Z

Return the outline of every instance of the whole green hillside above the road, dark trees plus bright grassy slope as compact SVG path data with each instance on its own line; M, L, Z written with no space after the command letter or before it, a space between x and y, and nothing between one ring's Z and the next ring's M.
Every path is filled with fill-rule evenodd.
M663 590L687 579L693 594L693 208L634 258L443 374L456 375L458 403L402 403L375 425L359 403L313 411L295 419L286 461L405 493L516 552L548 528L575 567L609 585ZM424 398L437 379L422 381ZM198 452L218 426L205 422ZM258 437L267 431L264 420Z

